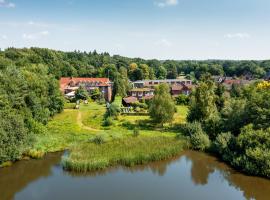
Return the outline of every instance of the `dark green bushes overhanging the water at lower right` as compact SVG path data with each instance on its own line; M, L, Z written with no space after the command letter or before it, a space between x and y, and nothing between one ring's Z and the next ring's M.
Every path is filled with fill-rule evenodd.
M270 129L242 128L238 137L230 133L217 136L213 147L223 160L250 175L270 177Z

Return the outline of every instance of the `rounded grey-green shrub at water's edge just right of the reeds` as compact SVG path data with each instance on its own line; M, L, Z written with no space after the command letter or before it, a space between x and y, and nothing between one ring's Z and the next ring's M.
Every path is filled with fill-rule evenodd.
M195 150L204 151L210 147L210 139L204 132L196 132L190 136L190 143Z

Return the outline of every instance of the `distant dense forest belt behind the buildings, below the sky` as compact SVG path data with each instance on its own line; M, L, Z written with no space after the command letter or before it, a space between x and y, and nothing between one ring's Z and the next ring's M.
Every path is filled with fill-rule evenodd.
M101 77L109 76L113 71L126 68L128 79L165 79L176 78L181 73L194 75L199 79L203 74L244 76L252 75L262 78L270 71L270 61L159 61L144 60L140 58L127 58L110 56L108 53L93 52L62 52L42 48L15 49L9 48L0 51L1 66L14 64L43 64L48 67L48 72L56 78L61 76ZM108 66L112 71L105 70Z

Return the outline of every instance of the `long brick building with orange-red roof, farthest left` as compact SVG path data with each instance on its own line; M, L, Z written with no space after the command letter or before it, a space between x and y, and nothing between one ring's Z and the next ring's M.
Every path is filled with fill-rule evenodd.
M62 77L60 79L60 90L65 96L72 98L75 96L75 91L84 86L91 94L94 89L99 89L106 101L111 101L112 98L112 83L108 78L73 78ZM73 97L74 97L73 96Z

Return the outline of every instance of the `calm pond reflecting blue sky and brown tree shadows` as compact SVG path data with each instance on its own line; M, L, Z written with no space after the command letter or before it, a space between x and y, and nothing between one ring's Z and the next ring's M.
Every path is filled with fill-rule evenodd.
M0 200L270 199L269 180L239 174L204 153L89 174L63 171L61 155L0 169Z

